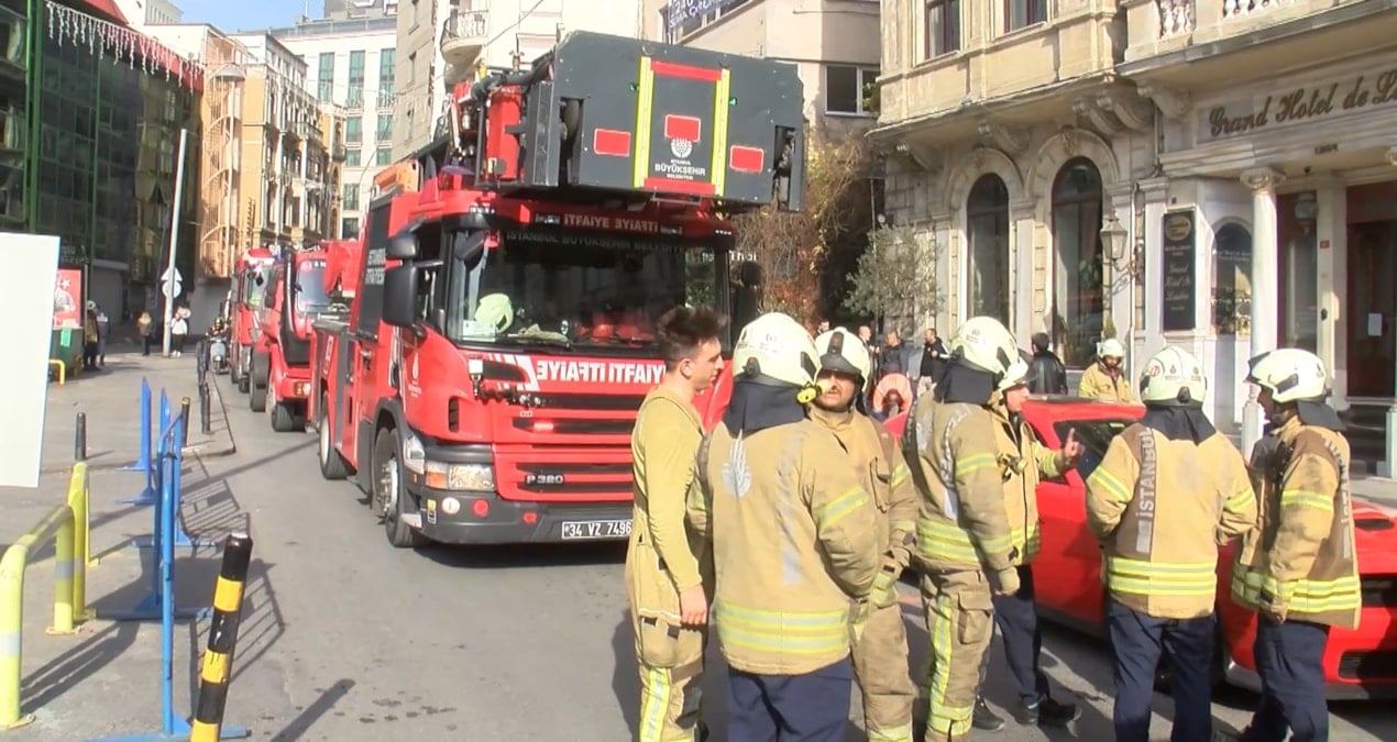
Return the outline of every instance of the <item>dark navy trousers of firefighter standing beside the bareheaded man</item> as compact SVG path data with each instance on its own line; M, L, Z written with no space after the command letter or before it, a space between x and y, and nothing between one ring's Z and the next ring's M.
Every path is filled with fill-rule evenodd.
M854 671L840 660L805 675L728 668L728 742L845 742Z

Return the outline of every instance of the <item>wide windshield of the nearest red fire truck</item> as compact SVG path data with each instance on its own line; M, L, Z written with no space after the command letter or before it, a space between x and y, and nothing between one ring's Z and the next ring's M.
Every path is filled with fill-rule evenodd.
M457 341L651 348L679 305L725 306L726 253L661 235L511 231L469 272ZM606 351L602 351L606 352Z

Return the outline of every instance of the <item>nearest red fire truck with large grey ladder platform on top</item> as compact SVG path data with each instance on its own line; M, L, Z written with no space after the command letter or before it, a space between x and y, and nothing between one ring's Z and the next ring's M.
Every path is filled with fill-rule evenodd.
M800 208L802 108L792 66L588 32L458 87L376 180L349 317L316 324L324 477L394 546L626 538L654 323L750 303L722 215Z

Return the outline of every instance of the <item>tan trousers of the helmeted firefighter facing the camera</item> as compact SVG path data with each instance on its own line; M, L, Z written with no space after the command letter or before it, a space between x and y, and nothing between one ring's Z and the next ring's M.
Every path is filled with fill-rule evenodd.
M869 742L912 742L916 688L907 655L901 604L875 609L851 654Z

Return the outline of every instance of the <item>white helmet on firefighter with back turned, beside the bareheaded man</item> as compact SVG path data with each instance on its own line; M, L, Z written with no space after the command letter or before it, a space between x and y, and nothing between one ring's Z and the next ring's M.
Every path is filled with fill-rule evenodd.
M738 379L800 388L802 404L817 394L814 376L820 365L814 338L780 312L763 314L742 328L732 349L732 366Z

